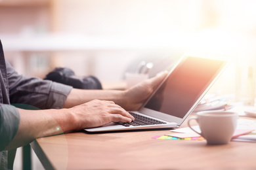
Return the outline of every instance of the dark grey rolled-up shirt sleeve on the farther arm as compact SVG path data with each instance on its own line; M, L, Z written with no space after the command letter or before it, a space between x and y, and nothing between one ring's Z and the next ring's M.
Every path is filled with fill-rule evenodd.
M18 75L7 61L10 101L12 104L33 105L39 109L61 109L72 90L51 80Z

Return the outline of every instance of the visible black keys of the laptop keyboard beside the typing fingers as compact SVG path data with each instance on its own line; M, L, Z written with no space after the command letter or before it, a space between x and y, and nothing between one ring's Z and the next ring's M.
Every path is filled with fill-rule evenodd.
M129 127L129 126L145 126L145 125L153 125L153 124L166 124L165 122L161 122L160 120L155 120L153 118L148 118L146 116L141 116L139 114L135 114L133 112L129 112L131 116L135 118L131 123L122 123L119 124Z

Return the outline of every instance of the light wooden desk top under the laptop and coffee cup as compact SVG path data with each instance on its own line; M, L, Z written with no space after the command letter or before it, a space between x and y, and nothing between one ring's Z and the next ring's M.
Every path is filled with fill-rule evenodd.
M186 126L186 122L182 127ZM44 137L31 145L46 169L255 169L256 143L151 139L163 131Z

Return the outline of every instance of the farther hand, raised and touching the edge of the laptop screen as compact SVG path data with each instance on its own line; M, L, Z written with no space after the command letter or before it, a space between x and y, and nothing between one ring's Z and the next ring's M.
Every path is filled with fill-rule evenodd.
M125 110L138 110L144 101L154 92L161 81L167 76L168 72L165 71L158 76L144 80L139 84L129 88L125 92L126 103L122 105Z

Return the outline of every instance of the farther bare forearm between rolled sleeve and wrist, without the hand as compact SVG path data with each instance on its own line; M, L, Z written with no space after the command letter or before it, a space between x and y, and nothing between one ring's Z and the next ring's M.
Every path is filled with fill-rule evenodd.
M114 101L117 105L124 107L126 104L125 92L121 90L81 90L74 88L68 95L64 108L71 108L94 99Z

